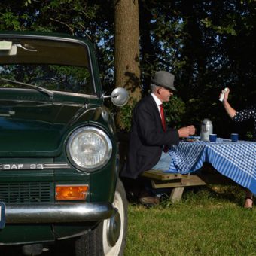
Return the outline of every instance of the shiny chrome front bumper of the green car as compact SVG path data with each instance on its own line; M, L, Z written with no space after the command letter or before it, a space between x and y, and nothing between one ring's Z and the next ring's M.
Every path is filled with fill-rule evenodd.
M113 213L111 203L8 204L5 221L16 224L101 221Z

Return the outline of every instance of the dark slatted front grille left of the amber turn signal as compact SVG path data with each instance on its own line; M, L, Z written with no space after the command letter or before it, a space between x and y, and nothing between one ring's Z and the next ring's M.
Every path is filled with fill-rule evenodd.
M52 201L48 182L0 183L0 201L5 203L47 203Z

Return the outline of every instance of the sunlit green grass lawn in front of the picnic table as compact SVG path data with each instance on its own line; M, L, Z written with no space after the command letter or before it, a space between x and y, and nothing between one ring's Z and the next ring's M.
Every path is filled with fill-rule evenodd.
M256 209L243 209L244 197L215 186L187 189L178 203L130 204L124 255L256 255Z

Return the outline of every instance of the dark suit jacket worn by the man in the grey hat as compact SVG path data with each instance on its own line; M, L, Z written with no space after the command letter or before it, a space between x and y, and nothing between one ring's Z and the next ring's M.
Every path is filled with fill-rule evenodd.
M133 110L129 151L122 177L137 178L160 160L163 145L178 144L178 130L163 131L160 113L151 94L141 99Z

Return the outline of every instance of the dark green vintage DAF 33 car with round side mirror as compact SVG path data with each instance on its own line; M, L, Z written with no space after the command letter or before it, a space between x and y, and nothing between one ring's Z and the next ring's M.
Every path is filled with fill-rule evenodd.
M105 98L110 99L105 99ZM0 32L0 254L120 255L126 195L95 48L68 35Z

